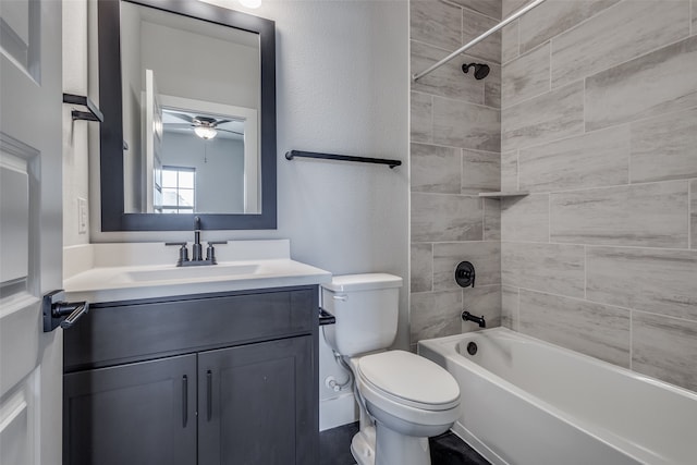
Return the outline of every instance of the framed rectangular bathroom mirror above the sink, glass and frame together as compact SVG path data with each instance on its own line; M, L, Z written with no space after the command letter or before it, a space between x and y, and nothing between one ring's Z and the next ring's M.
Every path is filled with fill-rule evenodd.
M99 0L102 231L276 229L272 21Z

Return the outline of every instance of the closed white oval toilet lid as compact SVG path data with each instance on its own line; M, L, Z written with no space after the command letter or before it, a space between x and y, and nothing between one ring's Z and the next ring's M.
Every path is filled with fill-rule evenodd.
M358 372L371 386L407 403L450 407L460 402L455 379L433 362L404 351L366 355Z

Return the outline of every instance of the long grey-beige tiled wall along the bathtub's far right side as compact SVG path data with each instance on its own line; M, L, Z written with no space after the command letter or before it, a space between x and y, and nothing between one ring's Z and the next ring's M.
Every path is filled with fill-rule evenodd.
M697 390L697 1L548 0L502 51L503 325Z

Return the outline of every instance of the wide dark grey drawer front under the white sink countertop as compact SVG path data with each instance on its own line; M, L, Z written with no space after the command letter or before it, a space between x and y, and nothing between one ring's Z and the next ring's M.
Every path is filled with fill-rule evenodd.
M65 371L314 332L316 287L100 306L65 331Z

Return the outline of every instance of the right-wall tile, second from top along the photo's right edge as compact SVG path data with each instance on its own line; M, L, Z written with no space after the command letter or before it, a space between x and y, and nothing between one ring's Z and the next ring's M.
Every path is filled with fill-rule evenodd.
M586 131L697 106L696 75L693 36L588 77Z

